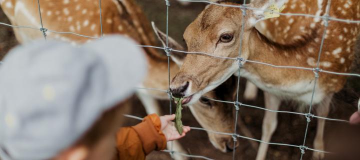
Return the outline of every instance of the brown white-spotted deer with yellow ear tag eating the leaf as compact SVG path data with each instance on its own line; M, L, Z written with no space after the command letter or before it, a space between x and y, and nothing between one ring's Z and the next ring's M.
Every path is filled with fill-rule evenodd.
M281 7L287 0L252 0L247 6L266 9L271 4ZM219 1L220 4L236 3ZM327 0L288 0L283 12L325 15ZM360 19L360 1L331 1L329 15L342 19ZM319 46L324 32L321 18L302 16L280 16L274 18L274 24L266 28L275 29L274 42L261 34L254 25L264 19L263 10L246 9L244 19L242 10L236 7L208 5L191 22L183 37L190 52L206 52L216 56L237 57L245 60L260 61L274 65L291 65L308 68L316 67ZM244 32L240 37L244 20ZM272 23L270 23L272 24ZM269 29L270 30L270 29ZM291 30L291 31L290 31ZM276 37L277 32L283 32ZM324 46L319 67L335 72L348 72L354 58L353 47L358 35L359 25L329 21L325 30ZM283 35L283 36L282 36ZM239 48L240 38L243 45ZM283 42L283 43L281 43ZM284 43L285 42L285 43ZM171 81L173 96L185 97L183 102L192 104L201 95L236 74L238 63L231 59L214 58L203 54L187 54L179 72ZM316 71L315 71L316 72ZM278 69L271 66L245 62L240 68L240 76L247 78L264 90L265 107L277 110L281 99L298 101L302 108L310 104L314 86L313 71L303 69ZM344 85L346 77L319 72L313 104L318 104L316 114L327 116L331 97ZM324 150L323 128L325 121L317 120L317 131L313 147ZM261 140L269 141L277 125L276 113L265 112L262 124ZM264 159L268 145L261 143L256 159ZM320 152L313 152L314 157L323 157Z

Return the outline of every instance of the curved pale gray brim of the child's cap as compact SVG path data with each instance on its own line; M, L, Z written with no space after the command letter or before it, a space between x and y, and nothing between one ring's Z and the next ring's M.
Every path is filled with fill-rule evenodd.
M146 75L146 58L141 47L130 38L111 35L84 44L102 58L108 75L107 107L124 100L134 93L134 89Z

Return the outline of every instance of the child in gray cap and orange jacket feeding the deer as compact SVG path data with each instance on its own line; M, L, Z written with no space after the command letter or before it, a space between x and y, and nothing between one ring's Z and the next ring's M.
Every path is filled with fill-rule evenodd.
M174 115L122 127L146 60L130 39L36 41L0 64L0 159L144 159L180 138Z

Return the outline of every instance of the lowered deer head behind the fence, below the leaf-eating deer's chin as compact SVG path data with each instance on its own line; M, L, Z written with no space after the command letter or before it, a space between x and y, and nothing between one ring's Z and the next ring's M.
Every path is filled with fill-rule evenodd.
M220 132L233 132L233 104L217 102L211 99L221 99L233 101L236 89L233 87L236 78L229 78L216 89L206 92L193 105L189 106L192 114L203 128ZM240 128L243 129L243 128ZM231 135L216 134L207 132L212 145L222 152L233 150L233 140ZM236 143L236 146L238 143Z

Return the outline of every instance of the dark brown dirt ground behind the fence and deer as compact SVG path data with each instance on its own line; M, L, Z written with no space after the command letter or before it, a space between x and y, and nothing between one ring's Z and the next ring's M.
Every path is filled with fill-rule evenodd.
M136 0L142 6L149 20L154 21L162 30L165 29L165 5L164 0ZM192 3L188 6L181 6L175 1L171 1L169 9L169 35L177 41L182 42L182 33L185 27L195 18L203 9L205 4ZM3 12L0 10L0 22L9 23ZM14 45L17 41L14 38L12 29L0 25L0 58ZM355 72L360 72L356 70ZM344 89L335 94L332 100L332 108L329 113L331 118L348 119L352 112L356 110L356 101L360 93L359 78L350 77ZM234 86L235 87L235 86ZM241 80L240 97L244 89L244 80ZM130 114L136 116L145 116L146 113L136 97L133 97L133 108ZM258 98L254 101L240 101L250 105L264 106L263 93L258 93ZM161 101L163 112L168 112L168 101ZM174 106L174 105L173 105ZM174 108L172 108L174 110ZM293 102L283 102L280 110L297 111ZM261 123L264 112L259 109L242 106L239 110L239 118L244 121L245 125L252 132L255 138L261 137ZM138 120L128 119L127 125L137 123ZM189 109L183 110L183 123L194 127L200 127ZM215 123L215 122L214 122ZM278 126L274 132L271 142L302 144L306 120L303 116L280 113L278 114ZM306 146L313 147L312 141L315 135L316 119L312 119L308 129ZM240 134L241 129L240 129ZM338 154L326 154L325 159L360 159L360 127L351 126L343 122L327 121L325 126L325 148L328 151L337 152ZM256 149L252 148L246 139L238 139L239 147L236 148L236 159L254 159ZM200 130L191 130L184 138L179 140L183 147L190 154L203 155L213 159L231 159L232 153L222 153L215 149L209 142L207 133ZM312 151L306 150L304 159L310 159ZM299 148L269 145L266 159L299 159ZM170 159L168 153L161 151L152 152L147 159ZM196 159L196 158L192 158Z

